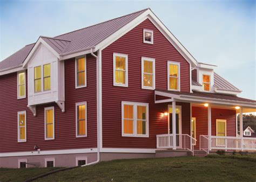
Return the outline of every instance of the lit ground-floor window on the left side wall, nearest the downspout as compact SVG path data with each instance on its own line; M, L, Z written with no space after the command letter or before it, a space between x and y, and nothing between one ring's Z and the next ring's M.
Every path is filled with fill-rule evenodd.
M76 103L76 137L87 136L87 104Z

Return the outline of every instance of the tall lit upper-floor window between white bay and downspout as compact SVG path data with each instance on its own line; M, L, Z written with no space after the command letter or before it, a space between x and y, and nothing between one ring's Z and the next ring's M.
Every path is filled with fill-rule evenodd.
M76 59L76 88L86 87L86 59Z

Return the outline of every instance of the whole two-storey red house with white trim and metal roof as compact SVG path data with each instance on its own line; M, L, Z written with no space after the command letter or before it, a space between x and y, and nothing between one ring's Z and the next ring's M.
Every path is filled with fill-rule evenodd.
M41 36L0 62L0 167L255 151L236 116L256 101L215 67L150 9Z

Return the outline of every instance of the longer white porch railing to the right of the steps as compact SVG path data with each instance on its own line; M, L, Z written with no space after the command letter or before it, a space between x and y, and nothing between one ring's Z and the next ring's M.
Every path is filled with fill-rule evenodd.
M223 137L211 136L211 150L248 150L256 151L256 138L250 137ZM209 137L200 135L200 150L206 152L208 149Z

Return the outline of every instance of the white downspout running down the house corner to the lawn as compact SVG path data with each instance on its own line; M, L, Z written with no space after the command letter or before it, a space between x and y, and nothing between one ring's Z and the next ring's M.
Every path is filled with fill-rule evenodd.
M87 166L87 165L93 165L93 164L97 164L99 161L100 161L100 154L99 154L99 149L100 149L100 143L99 143L99 139L100 139L100 132L99 132L99 109L98 109L98 98L99 98L99 92L98 92L98 89L99 89L99 86L98 86L98 81L99 81L99 78L98 78L98 71L100 71L99 69L98 69L98 66L99 66L99 59L101 59L100 58L100 56L99 56L99 51L98 51L98 56L97 55L95 55L94 53L93 53L93 51L92 51L92 48L91 48L91 55L93 56L93 57L95 57L96 58L96 61L97 61L97 160L95 161L95 162L92 162L92 163L89 163L89 164L85 164L85 165L82 165L81 167L84 167L84 166Z

